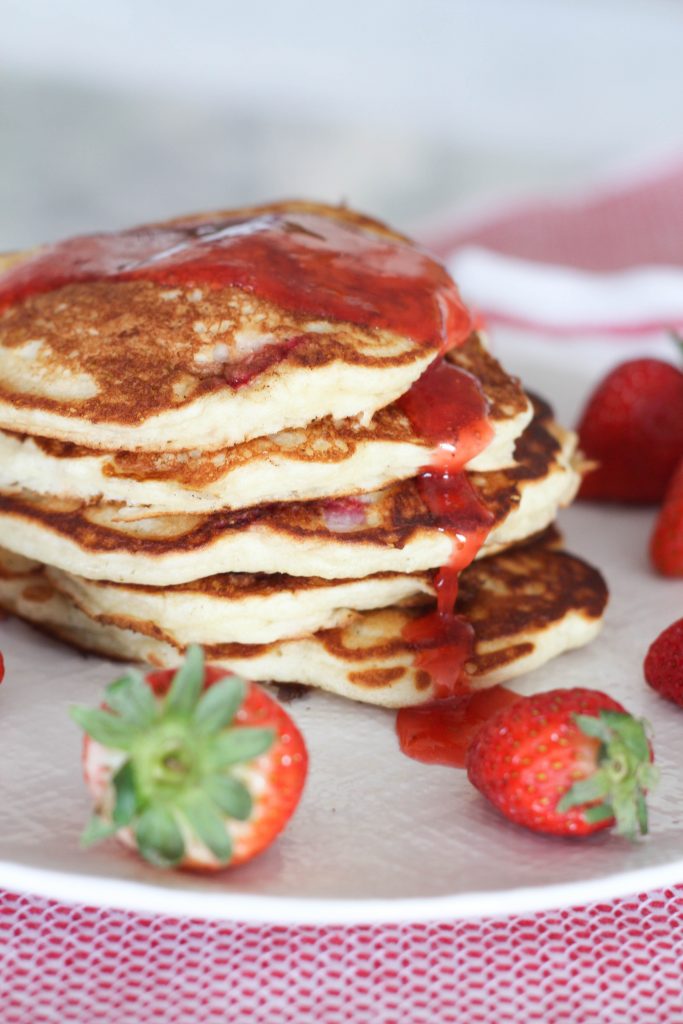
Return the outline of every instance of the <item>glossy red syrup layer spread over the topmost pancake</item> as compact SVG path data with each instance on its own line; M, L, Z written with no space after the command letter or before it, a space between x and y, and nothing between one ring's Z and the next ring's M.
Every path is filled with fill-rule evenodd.
M58 242L0 279L0 311L93 281L236 287L290 312L381 328L445 350L471 331L445 267L422 250L296 211L188 220Z

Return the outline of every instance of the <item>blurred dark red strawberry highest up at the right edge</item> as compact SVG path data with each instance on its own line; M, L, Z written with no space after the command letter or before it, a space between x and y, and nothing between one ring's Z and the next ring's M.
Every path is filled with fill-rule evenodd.
M579 439L599 463L582 498L660 502L683 458L683 373L660 359L623 362L589 398Z

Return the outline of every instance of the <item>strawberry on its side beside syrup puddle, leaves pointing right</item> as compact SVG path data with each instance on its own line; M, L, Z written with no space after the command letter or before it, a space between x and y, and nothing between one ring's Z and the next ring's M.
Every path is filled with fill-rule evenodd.
M470 781L517 824L586 836L616 823L647 831L656 780L643 722L597 690L550 690L517 700L475 735Z

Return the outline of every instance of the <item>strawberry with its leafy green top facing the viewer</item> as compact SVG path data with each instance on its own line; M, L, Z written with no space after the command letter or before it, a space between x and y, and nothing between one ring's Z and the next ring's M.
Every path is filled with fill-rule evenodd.
M260 853L294 813L307 756L264 690L204 667L112 683L100 709L73 708L85 729L95 801L83 844L116 835L160 867L217 870Z

